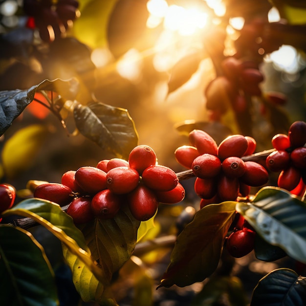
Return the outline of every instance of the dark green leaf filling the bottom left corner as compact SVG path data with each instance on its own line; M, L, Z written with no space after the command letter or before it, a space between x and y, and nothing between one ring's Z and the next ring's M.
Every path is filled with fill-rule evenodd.
M1 305L58 305L53 271L31 233L0 225L0 275Z

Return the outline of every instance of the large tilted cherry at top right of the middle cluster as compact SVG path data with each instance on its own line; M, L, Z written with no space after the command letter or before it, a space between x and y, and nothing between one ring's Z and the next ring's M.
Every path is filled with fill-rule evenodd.
M221 161L230 156L242 157L248 148L248 141L242 135L231 135L221 141L218 156Z

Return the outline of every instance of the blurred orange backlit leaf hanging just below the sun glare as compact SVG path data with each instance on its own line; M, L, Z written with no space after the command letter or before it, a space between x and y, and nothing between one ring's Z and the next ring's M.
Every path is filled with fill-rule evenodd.
M195 51L181 58L171 69L168 82L168 94L187 83L203 60L203 51Z

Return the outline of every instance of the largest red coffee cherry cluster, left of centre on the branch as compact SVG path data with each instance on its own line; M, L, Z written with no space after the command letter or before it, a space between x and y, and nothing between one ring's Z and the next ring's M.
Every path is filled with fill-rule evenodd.
M139 145L128 160L104 159L96 167L69 170L61 183L38 185L33 196L60 206L69 204L66 213L81 224L112 219L125 204L135 219L145 221L155 215L159 203L183 200L185 190L171 168L157 164L152 148Z

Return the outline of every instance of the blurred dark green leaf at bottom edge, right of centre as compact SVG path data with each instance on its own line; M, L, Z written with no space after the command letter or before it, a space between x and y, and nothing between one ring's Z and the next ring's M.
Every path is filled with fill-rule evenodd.
M192 300L191 306L218 305L224 299L226 299L226 305L247 305L246 292L238 277L220 276L210 279Z

